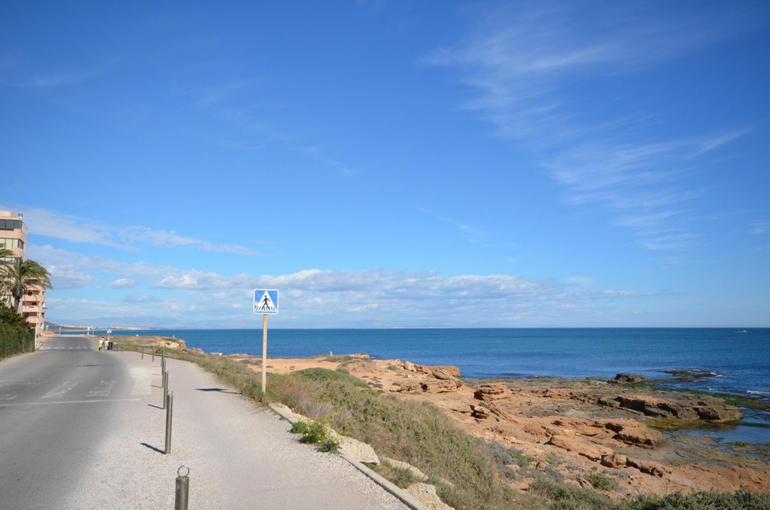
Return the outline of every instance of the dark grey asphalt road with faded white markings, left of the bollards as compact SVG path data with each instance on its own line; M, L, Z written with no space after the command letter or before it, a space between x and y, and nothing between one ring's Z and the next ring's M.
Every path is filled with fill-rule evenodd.
M0 362L0 508L61 508L133 389L126 361L85 337Z

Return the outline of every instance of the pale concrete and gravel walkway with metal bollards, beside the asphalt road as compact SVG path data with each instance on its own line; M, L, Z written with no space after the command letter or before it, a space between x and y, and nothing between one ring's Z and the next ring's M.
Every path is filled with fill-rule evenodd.
M160 358L112 351L129 364L132 394L62 508L173 508L179 465L190 468L189 508L407 508L342 458L301 445L290 424L195 364L167 360L174 392L172 454ZM114 422L113 422L114 423Z

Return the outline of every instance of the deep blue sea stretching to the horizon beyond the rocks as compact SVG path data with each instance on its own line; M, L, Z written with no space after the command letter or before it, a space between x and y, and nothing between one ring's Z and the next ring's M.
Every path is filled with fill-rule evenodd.
M262 354L262 330L114 330L183 338L188 347ZM614 377L668 379L676 388L770 403L770 328L386 328L269 330L268 357L368 353L375 359L450 364L467 378ZM666 371L713 374L691 383ZM665 384L665 383L664 383ZM770 441L770 413L744 410L744 425L701 431L721 441ZM763 426L766 425L766 426Z

